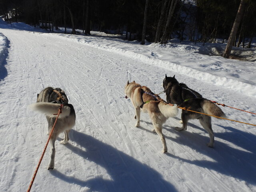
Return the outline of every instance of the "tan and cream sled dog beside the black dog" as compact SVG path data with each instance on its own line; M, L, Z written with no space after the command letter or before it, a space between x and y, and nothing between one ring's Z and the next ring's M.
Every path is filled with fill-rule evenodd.
M170 106L159 96L156 96L148 87L141 86L135 81L129 83L127 82L124 92L126 98L130 98L132 105L135 109L135 127L140 126L140 110L142 112L148 113L153 126L153 132L156 132L161 140L163 145L163 153L167 152L166 140L162 134L162 125L169 117L175 117L178 114L178 108ZM140 109L142 108L142 109Z

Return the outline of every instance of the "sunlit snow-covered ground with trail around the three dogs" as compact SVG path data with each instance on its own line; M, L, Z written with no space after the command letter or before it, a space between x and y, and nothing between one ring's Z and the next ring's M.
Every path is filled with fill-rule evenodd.
M56 142L50 171L47 148L31 191L256 191L256 126L213 118L215 147L208 148L198 120L184 132L173 129L181 126L179 113L164 124L168 153L162 154L148 114L134 127L134 109L124 98L127 80L160 93L165 74L175 74L205 98L256 113L255 48L243 52L252 62L243 62L208 56L216 50L210 44L142 46L91 33L48 33L0 21L1 191L28 189L48 136L44 115L27 106L47 86L66 91L76 126L68 144ZM254 114L221 108L229 119L256 124Z

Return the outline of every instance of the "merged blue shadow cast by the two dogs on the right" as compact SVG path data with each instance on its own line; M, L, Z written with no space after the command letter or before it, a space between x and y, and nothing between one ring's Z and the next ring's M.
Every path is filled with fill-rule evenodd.
M220 125L215 124L214 126ZM195 125L192 127L198 128L198 126ZM233 148L224 142L215 140L214 148L209 148L206 146L206 142L209 142L208 134L207 136L203 136L198 133L193 133L190 127L188 127L188 130L184 132L176 132L173 130L174 134L176 134L176 138L166 136L166 139L172 140L173 142L177 142L186 147L190 147L198 153L212 158L212 160L190 160L170 153L167 155L172 158L177 158L183 162L215 170L221 174L232 176L234 178L244 180L249 184L255 185L256 136L232 127L220 127L223 127L227 132L215 133L215 138L226 140L238 147Z

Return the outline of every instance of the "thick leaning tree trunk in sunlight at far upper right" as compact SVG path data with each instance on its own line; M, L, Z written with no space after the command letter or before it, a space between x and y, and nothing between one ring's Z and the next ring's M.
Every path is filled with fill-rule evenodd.
M230 32L230 36L228 38L227 46L226 46L225 51L222 55L225 58L229 58L229 56L230 56L230 53L231 53L231 50L232 50L232 45L234 44L234 40L236 38L236 33L238 31L240 22L242 20L245 8L246 8L246 0L241 0L238 11L237 11L237 14L236 14L236 19L234 21L232 30Z

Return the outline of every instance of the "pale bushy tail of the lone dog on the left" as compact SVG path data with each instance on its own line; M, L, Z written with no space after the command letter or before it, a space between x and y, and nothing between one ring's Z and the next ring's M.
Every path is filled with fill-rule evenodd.
M62 107L62 112L60 113L59 118L65 118L70 115L70 106L71 104L64 105ZM38 111L44 113L46 116L50 118L57 117L54 114L58 114L58 108L60 104L58 103L49 103L49 102L38 102L29 105L29 108L33 111Z

